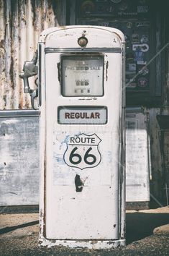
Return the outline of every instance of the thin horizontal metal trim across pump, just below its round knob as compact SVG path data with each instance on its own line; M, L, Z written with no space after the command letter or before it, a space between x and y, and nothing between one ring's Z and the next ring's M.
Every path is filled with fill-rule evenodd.
M45 48L45 54L51 54L51 53L75 53L75 52L85 52L85 53L99 53L99 52L105 52L105 53L114 53L114 54L122 54L122 49L117 48Z

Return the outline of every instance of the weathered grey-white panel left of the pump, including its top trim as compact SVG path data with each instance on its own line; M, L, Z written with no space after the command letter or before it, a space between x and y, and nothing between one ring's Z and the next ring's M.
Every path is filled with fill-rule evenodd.
M0 111L0 140L0 205L38 205L38 111Z

